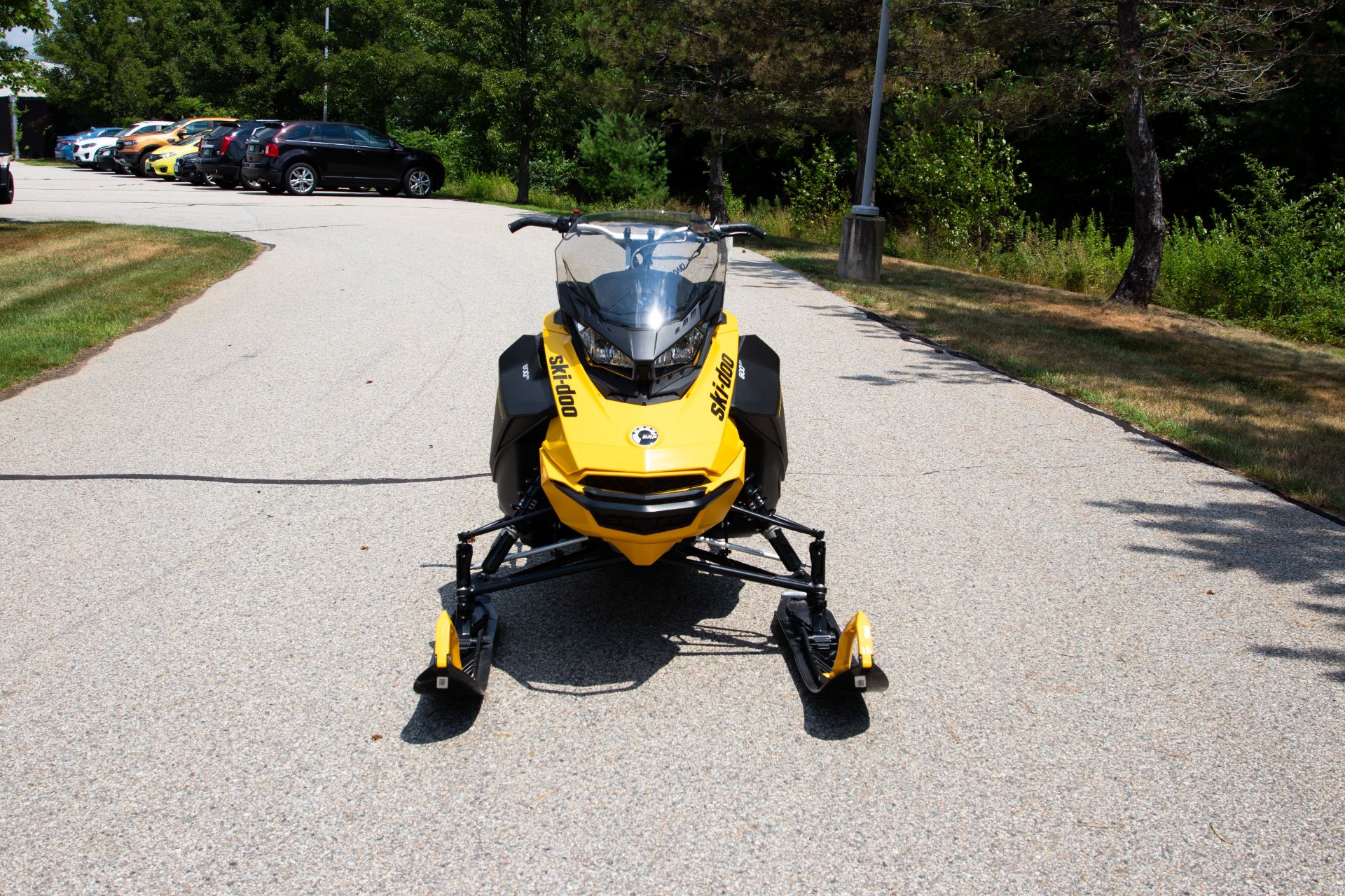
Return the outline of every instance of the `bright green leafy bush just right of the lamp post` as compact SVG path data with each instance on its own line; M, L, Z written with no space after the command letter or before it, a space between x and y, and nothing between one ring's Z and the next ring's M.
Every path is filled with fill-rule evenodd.
M884 146L878 177L931 246L970 250L978 263L1006 240L1029 187L1017 150L979 120L904 129Z

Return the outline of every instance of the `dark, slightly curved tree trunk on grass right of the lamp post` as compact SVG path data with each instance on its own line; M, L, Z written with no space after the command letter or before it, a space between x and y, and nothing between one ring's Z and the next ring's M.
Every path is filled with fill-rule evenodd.
M1114 302L1145 306L1154 298L1158 273L1163 265L1163 184L1158 173L1158 149L1149 130L1145 110L1145 75L1139 48L1143 35L1139 30L1139 1L1122 0L1116 4L1122 66L1122 118L1126 126L1126 156L1130 159L1131 195L1135 204L1135 251L1130 265L1111 294Z

